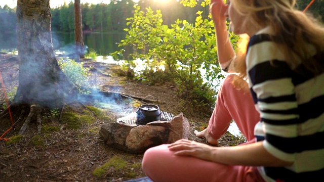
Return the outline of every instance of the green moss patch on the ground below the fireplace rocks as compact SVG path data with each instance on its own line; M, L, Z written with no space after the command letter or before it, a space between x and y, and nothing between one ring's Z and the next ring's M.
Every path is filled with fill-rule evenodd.
M122 169L128 165L128 162L120 157L113 157L108 162L106 162L104 165L96 168L93 171L93 175L96 177L103 176L109 167L114 167L116 170Z

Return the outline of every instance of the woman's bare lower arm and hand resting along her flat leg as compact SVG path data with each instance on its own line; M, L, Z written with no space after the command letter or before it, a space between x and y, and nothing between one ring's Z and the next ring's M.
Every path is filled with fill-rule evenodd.
M212 147L189 140L179 140L169 146L175 155L185 155L226 165L290 166L293 163L280 160L268 153L262 142L234 147Z

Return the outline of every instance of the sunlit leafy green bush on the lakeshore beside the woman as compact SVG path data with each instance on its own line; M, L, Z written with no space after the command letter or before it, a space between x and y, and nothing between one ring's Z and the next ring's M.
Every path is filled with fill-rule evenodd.
M193 0L181 3L188 7L197 4ZM217 94L215 88L219 86L217 80L223 76L218 64L209 3L200 4L205 11L196 13L195 23L178 19L171 28L163 24L160 10L153 12L146 8L146 12L143 12L140 7L134 6L134 17L127 19L130 28L125 31L128 34L121 40L119 47L131 46L136 49L130 55L131 60L128 60L130 67L135 65L133 60L143 61L141 66L144 66L144 70L138 72L135 78L149 83L166 80L175 82L179 87L179 96L186 101L199 107L214 106ZM238 36L230 33L230 39L235 43ZM118 60L124 52L121 49L111 56ZM157 69L161 65L165 67L164 71Z

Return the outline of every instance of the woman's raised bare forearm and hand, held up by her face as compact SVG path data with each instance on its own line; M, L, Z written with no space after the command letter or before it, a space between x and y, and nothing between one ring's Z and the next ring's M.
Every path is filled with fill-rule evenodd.
M218 60L223 70L228 68L230 62L235 58L235 52L226 27L226 11L227 5L224 4L223 0L212 0L210 13L215 24Z

